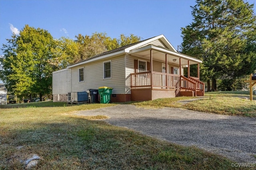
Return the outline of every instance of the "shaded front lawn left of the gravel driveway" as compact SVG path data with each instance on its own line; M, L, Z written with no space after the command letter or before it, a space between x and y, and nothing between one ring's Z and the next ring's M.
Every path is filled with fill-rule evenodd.
M38 102L0 109L0 169L23 170L33 154L42 159L32 169L233 169L222 156L91 120L103 115L72 114L113 105Z

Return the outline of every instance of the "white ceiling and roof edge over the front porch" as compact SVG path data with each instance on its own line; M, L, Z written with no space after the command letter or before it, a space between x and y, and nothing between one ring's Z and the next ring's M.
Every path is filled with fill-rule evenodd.
M166 54L167 54L167 59L168 59L169 63L174 63L174 64L179 65L180 58L181 58L181 65L183 67L188 65L188 60L190 61L190 65L202 63L202 61L195 59L193 57L189 57L187 55L183 55L180 53L162 49L160 47L155 47L153 45L148 45L146 47L131 50L129 52L129 54L137 56L137 57L145 58L145 59L150 59L150 50L151 49L153 50L153 60L161 61L162 63L165 63L165 55ZM176 59L176 61L173 61L175 59Z

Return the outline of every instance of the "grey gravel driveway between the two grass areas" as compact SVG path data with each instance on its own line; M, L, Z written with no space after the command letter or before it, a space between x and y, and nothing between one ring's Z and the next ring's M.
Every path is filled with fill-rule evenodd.
M255 163L256 118L216 115L164 107L144 109L116 105L79 111L77 115L106 115L104 121L172 143L226 156L238 163Z

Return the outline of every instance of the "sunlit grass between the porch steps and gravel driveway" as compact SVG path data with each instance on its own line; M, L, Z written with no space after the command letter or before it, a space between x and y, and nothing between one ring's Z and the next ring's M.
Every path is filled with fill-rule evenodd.
M193 97L163 98L152 101L137 102L133 105L145 108L180 107L194 111L203 111L222 115L236 115L256 117L256 96L250 101L241 97L249 97L248 91L238 92L210 92L206 93L203 100L196 100L188 104L180 101L193 99ZM195 97L194 97L195 98Z

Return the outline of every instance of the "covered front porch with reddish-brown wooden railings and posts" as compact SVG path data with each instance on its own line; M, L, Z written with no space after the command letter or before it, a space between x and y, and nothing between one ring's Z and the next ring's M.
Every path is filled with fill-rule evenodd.
M143 49L144 48L144 49ZM152 45L136 49L130 55L150 59L146 70L136 68L130 74L130 89L132 101L155 100L177 96L204 96L205 84L200 82L200 67L202 61ZM162 64L162 72L157 70L156 62ZM134 61L136 63L136 61ZM169 69L169 65L175 66ZM190 65L197 64L197 77L190 76ZM183 76L183 68L188 68L188 77ZM176 70L175 70L176 68ZM178 68L178 69L177 69ZM158 69L159 70L159 69ZM171 71L169 71L171 70Z

